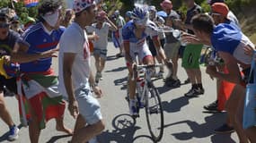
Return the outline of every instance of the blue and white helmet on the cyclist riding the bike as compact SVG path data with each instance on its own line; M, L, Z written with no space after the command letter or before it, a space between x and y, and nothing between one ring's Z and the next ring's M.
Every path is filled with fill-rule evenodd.
M146 25L149 19L148 9L146 7L135 7L132 12L132 19L139 25Z

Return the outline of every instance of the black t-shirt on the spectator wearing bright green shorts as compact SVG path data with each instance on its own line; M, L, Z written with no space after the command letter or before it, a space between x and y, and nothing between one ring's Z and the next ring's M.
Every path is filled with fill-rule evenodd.
M203 9L198 4L195 4L193 8L187 11L185 24L191 24L193 16L195 16L198 13L203 13ZM188 29L188 33L194 34L194 32L191 29Z

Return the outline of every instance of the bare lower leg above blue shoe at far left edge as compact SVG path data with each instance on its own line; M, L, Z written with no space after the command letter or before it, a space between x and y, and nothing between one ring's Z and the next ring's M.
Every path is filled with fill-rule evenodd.
M4 92L0 93L0 117L9 126L13 126L13 120L4 103Z

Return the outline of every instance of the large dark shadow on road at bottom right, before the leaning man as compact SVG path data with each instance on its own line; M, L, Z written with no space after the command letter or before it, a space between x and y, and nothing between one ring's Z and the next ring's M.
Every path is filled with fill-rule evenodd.
M215 134L214 130L220 126L225 119L224 113L219 114L212 114L205 118L204 123L199 124L198 122L193 121L181 121L181 122L174 122L171 124L164 125L164 128L173 126L173 125L179 125L181 123L185 123L190 127L191 131L187 132L178 132L178 133L172 133L172 136L174 136L176 139L179 140L189 140L192 138L206 138L208 136L212 136L211 140L213 143L219 143L219 142L225 142L225 143L234 143L235 141L231 139L231 134Z

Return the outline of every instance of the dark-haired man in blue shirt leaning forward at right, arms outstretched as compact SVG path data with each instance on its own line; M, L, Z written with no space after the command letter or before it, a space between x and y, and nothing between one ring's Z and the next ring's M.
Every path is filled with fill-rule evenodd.
M227 13L225 13L227 15ZM234 120L234 129L236 131L243 131L241 109L243 109L243 100L245 97L245 88L247 82L243 79L240 69L243 70L244 77L249 77L249 71L251 70L252 57L246 55L243 51L244 47L250 46L255 48L249 38L243 35L240 29L234 24L220 23L217 26L214 25L214 21L207 14L199 14L192 19L192 26L195 31L195 35L200 42L207 45L212 45L217 54L224 59L225 65L229 73L223 73L216 71L216 66L207 66L207 73L214 78L221 80L227 80L233 82L234 95L238 97L239 105L235 109L234 113L238 114L238 119ZM187 38L188 39L188 38ZM194 38L195 39L195 38ZM249 80L250 81L250 80ZM255 138L251 137L255 134L256 128L252 127L247 130L247 136L251 142L255 142ZM248 142L246 137L241 138L240 142Z

